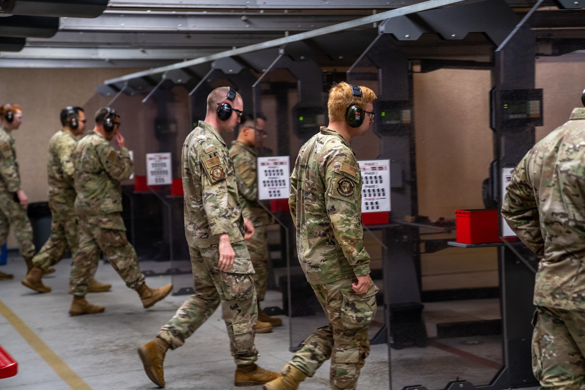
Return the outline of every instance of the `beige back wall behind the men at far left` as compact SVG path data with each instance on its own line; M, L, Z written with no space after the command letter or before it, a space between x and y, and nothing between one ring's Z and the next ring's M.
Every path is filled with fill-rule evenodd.
M22 106L23 124L13 132L22 188L29 200L47 200L47 144L60 127L59 113L68 105L85 105L104 80L140 69L0 69L0 104ZM94 98L106 104L109 98ZM92 119L95 110L88 110ZM90 125L90 123L88 123ZM11 234L9 247L16 241Z

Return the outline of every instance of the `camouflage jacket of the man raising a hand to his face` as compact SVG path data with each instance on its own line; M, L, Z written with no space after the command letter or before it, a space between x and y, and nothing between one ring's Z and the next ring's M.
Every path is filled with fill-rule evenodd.
M102 215L122 211L120 182L127 180L134 171L128 149L121 148L116 152L103 135L90 131L75 146L73 166L77 192L76 215Z

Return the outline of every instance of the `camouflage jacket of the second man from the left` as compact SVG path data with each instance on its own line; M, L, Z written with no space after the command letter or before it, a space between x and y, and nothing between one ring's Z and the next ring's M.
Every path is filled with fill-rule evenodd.
M77 139L67 129L56 132L49 141L47 175L49 176L49 202L73 210L75 187L73 182L73 150Z

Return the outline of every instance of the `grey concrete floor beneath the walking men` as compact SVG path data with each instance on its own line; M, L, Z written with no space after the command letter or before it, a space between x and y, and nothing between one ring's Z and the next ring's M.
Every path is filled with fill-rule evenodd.
M57 272L43 279L53 291L38 294L20 285L25 276L22 258L10 257L8 265L0 266L0 271L13 273L15 279L0 282L0 300L91 389L156 389L157 386L144 374L136 348L156 336L160 326L173 316L186 296L169 296L144 310L136 293L126 288L110 265L101 262L96 279L112 283L112 291L89 294L88 301L104 305L105 313L70 317L67 313L71 303L71 296L67 294L70 264L70 259L61 261L56 266ZM149 286L159 287L169 283L170 276L147 278L146 281ZM270 292L267 298L266 306L280 302L280 295L276 292ZM280 371L292 356L288 351L287 317L283 319L285 326L256 337L260 351L258 363L273 371ZM0 379L2 390L70 388L1 315L0 345L19 362L18 375ZM183 347L167 354L166 389L238 389L233 386L234 370L225 324L217 311ZM315 377L308 378L301 385L303 390L328 388L328 362ZM372 347L358 388L388 388L386 345Z

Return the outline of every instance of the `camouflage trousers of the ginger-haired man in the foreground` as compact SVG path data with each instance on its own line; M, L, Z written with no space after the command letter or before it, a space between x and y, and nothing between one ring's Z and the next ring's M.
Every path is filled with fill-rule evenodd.
M312 285L312 288L329 324L317 328L302 343L301 349L289 364L312 377L331 357L331 388L353 390L357 386L360 369L370 354L367 330L376 316L375 290L374 295L368 297L356 295L352 289L352 279Z

